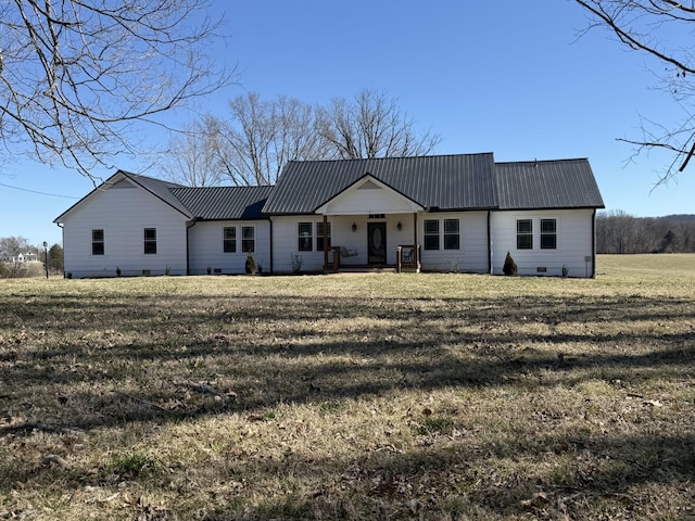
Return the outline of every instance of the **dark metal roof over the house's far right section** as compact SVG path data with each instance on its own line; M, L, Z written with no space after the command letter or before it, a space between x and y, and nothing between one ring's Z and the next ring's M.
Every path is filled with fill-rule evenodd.
M603 208L589 160L495 165L500 209Z

